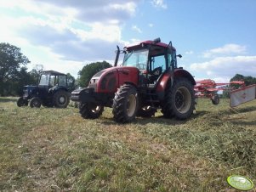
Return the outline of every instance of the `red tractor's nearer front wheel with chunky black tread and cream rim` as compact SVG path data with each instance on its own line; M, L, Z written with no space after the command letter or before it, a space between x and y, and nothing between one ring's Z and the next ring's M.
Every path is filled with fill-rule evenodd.
M122 85L113 99L114 120L125 123L134 121L139 105L137 89L133 85Z

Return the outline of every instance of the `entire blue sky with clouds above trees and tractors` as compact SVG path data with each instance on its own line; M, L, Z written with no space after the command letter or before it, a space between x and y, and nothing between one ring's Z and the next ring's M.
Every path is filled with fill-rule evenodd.
M71 73L106 60L117 45L172 41L196 80L256 77L255 0L2 0L0 42L20 48L28 71Z

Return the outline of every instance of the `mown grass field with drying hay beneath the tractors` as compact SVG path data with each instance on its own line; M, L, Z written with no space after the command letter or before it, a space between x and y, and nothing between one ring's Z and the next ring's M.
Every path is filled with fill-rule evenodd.
M187 121L120 125L0 98L0 191L236 191L232 174L256 182L255 117L256 100L200 99Z

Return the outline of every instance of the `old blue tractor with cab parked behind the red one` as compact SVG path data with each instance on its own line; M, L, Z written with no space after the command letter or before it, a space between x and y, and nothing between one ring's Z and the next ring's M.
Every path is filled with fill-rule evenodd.
M31 107L65 108L70 102L67 88L67 76L58 71L41 71L37 86L27 85L23 95L17 100L17 105Z

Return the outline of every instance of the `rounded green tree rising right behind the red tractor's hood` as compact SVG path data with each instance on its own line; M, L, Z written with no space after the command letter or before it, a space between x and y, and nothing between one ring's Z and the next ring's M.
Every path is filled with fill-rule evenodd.
M105 70L112 65L106 61L91 63L82 67L82 71L78 72L78 86L87 87L90 79L99 71Z

